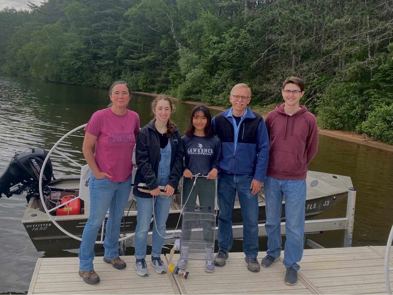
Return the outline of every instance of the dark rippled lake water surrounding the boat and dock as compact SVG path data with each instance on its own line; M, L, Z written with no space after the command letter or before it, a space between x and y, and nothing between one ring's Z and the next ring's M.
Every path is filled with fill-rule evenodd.
M130 109L140 115L141 126L151 119L152 97L132 95ZM25 78L0 77L0 173L15 152L30 147L50 149L69 130L88 121L109 102L108 91L91 87L45 83ZM174 102L173 121L183 131L194 105ZM211 110L212 116L219 111ZM320 135L318 154L309 169L352 178L357 189L353 246L386 245L393 223L393 153ZM60 151L83 162L83 133L68 137ZM51 157L55 176L79 174L68 160ZM24 196L0 198L0 293L28 290L38 257L75 256L75 253L37 252L24 227ZM346 199L319 218L345 217ZM325 247L340 247L342 231L312 235ZM266 250L266 239L260 249ZM241 250L235 242L233 250ZM127 252L127 254L130 254Z

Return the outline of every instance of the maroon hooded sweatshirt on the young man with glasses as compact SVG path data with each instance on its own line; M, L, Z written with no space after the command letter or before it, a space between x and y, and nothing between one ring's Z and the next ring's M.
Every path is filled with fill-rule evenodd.
M266 175L280 179L306 179L307 169L318 149L318 126L314 115L301 109L292 116L284 105L275 107L265 122L270 138Z

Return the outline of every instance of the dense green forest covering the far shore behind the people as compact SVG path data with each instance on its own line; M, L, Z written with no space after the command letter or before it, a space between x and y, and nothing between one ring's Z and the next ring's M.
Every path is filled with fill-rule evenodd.
M321 127L393 144L391 0L45 0L0 11L0 72L228 106L281 101L290 75Z

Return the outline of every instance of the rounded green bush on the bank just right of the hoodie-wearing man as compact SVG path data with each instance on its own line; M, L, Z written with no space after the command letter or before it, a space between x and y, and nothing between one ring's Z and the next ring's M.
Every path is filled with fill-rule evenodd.
M327 129L354 130L362 122L366 108L359 83L332 84L320 95L318 123Z

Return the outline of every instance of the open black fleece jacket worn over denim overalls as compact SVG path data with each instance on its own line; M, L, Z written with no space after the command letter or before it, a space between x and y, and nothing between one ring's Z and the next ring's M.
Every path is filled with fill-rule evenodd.
M143 126L136 138L135 160L136 175L134 183L146 183L149 190L158 188L157 174L158 163L160 162L160 139L156 132L156 127L153 119L149 124ZM175 127L174 133L169 135L169 142L171 143L171 172L169 174L168 184L175 190L179 185L179 180L183 166L183 144L179 129ZM134 195L141 198L151 198L150 193L144 193L138 188L134 187Z

